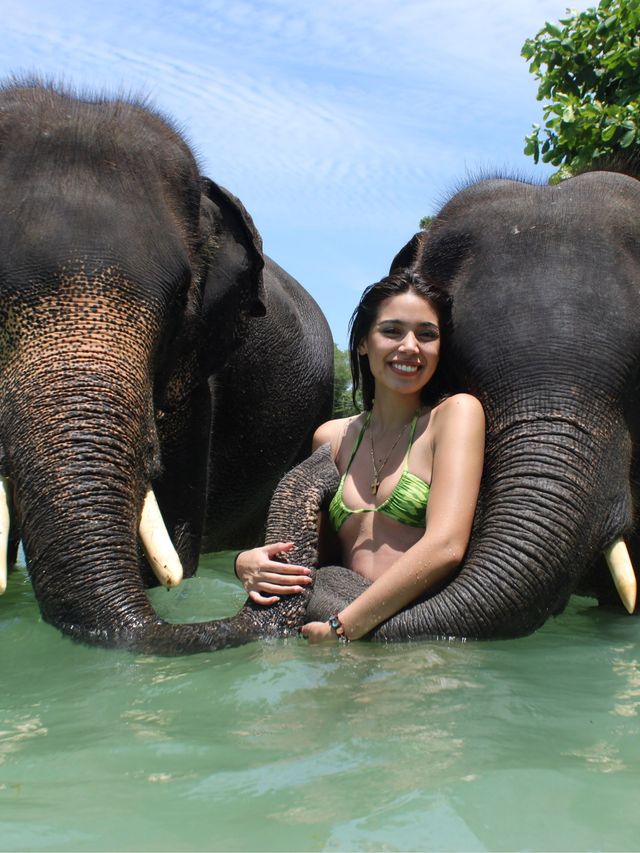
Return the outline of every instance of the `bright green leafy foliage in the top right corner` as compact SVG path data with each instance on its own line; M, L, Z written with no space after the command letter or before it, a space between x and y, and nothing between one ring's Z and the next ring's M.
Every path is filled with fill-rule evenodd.
M522 56L546 100L524 153L569 177L600 157L640 145L640 0L601 0L567 10L527 39Z

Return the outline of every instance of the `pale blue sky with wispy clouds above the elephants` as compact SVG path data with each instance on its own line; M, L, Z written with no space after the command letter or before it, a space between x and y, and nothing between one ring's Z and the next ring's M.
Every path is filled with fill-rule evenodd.
M573 2L579 10L597 5ZM146 95L346 343L362 289L456 186L545 180L524 40L564 0L2 0L2 76Z

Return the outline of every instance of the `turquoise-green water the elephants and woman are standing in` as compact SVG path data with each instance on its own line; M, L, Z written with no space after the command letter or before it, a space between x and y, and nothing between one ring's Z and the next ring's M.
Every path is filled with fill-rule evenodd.
M153 601L244 600L225 555ZM0 850L638 850L640 622L187 658L85 648L0 599Z

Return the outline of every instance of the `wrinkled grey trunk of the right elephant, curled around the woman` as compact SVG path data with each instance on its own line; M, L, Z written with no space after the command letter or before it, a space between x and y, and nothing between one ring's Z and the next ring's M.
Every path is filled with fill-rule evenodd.
M574 418L560 416L512 420L495 431L477 522L457 576L371 637L516 637L560 612L585 568L630 525L630 450L615 455L622 426L611 414L600 425L597 438L585 435ZM603 489L611 493L606 518L595 511ZM366 585L353 572L322 569L307 618L328 618Z

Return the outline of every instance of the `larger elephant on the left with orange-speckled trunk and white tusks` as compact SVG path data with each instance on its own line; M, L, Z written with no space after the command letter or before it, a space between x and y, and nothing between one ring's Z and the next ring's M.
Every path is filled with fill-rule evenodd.
M149 653L242 641L246 619L166 623L146 587L263 538L332 382L320 308L168 119L0 88L0 550L22 541L46 622Z

